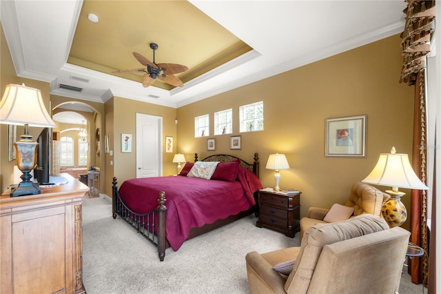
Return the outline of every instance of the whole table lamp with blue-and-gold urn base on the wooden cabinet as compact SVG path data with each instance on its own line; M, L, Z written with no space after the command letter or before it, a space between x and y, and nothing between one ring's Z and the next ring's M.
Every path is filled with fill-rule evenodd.
M40 193L39 184L31 182L31 170L37 164L39 144L32 141L29 135L29 126L54 128L57 125L46 111L39 89L23 85L9 84L0 101L0 124L14 124L25 127L24 135L14 142L17 167L23 175L23 180L14 188L11 197L34 195Z

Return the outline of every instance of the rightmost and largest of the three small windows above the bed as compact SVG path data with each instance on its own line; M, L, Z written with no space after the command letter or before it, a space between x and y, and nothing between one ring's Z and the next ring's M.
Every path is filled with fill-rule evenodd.
M263 130L263 101L239 107L240 133Z

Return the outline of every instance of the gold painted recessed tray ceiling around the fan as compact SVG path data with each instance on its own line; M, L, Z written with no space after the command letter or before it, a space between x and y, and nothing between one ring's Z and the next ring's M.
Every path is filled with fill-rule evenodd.
M88 14L99 17L98 23ZM187 1L84 1L68 63L142 81L141 73L112 73L143 68L132 52L153 61L150 43L157 43L156 63L178 63L184 83L252 50L231 32ZM157 80L154 86L170 90Z

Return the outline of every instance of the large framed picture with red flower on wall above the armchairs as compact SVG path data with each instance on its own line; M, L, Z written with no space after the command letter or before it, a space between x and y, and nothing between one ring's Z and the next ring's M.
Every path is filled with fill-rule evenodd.
M366 157L367 115L326 119L326 157Z

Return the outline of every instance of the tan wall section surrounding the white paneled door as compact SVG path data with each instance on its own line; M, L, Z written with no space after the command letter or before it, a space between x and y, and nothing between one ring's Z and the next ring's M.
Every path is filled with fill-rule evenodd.
M109 104L107 106L107 104ZM110 104L113 104L111 106ZM113 111L113 132L110 133L110 141L112 141L112 150L114 152L113 170L114 177L118 178L118 182L121 184L125 179L136 177L136 113L143 113L146 115L156 115L163 117L163 146L165 146L165 136L174 137L174 148L176 151L176 124L174 124L174 118L176 117L176 109L166 106L158 106L154 104L148 104L141 101L134 101L124 99L121 97L113 97L106 103L106 110ZM112 119L108 115L106 116L106 124L109 122L107 119ZM106 126L107 126L106 125ZM132 134L132 152L121 153L121 134ZM165 153L163 149L163 175L176 174L176 164L172 163L174 153ZM106 159L107 161L107 159ZM112 183L107 181L110 177L106 177L106 193L112 195L111 191L107 190L112 186Z

